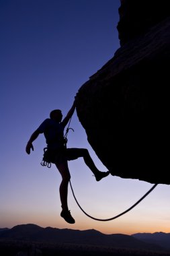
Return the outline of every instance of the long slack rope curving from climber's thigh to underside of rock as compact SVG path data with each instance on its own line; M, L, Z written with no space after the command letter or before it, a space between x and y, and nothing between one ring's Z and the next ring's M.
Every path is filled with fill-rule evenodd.
M70 182L70 185L71 185L71 181ZM93 219L93 220L98 220L98 221L101 221L101 222L107 222L109 220L114 220L116 218L119 218L120 216L126 214L127 212L129 212L130 210L132 210L132 208L134 208L138 203L140 203L140 201L142 201L144 199L144 197L146 197L149 193L151 193L151 191L153 191L153 189L155 189L155 187L157 187L158 184L155 184L153 185L153 187L151 187L151 189L148 190L148 192L146 192L138 201L136 201L136 203L134 203L134 205L132 205L130 208L128 208L126 211L122 212L121 214L118 214L112 218L108 218L108 219L99 219L99 218L94 218L92 216L90 216L89 214L87 214L83 208L81 207L81 205L79 205L79 202L77 201L76 197L75 197L75 193L73 191L73 187L71 185L71 190L72 190L72 193L73 193L73 197L75 198L75 201L77 202L77 205L79 205L79 208L81 209L81 211L87 215L89 218Z

